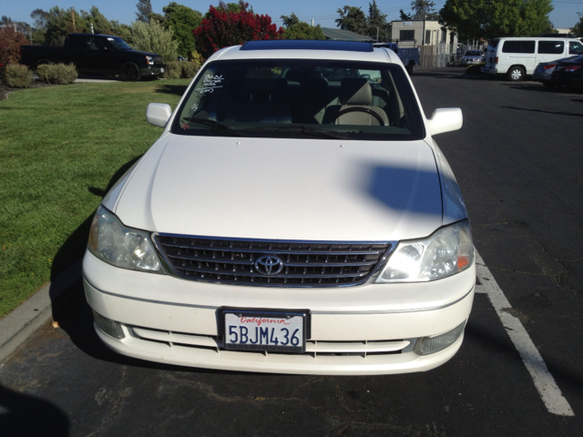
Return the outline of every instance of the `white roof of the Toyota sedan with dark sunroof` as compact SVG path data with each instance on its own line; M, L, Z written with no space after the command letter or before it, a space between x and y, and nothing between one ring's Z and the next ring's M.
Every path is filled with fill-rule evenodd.
M209 60L236 59L330 59L368 62L398 62L392 50L373 47L371 43L326 40L248 41L230 46L210 56Z

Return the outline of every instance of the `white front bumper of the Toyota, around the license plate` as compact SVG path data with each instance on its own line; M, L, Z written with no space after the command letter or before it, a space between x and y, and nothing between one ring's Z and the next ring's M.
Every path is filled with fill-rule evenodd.
M424 284L238 287L117 269L90 253L84 259L89 305L118 321L125 335L116 340L96 326L109 348L148 361L230 371L362 375L433 369L455 355L463 334L444 351L426 356L414 351L415 343L467 320L475 278L473 267ZM310 309L306 353L225 351L220 306Z

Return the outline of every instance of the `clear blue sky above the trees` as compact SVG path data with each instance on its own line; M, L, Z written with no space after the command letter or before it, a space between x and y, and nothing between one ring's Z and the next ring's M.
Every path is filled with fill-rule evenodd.
M162 7L169 5L172 0L151 0L154 12L162 14ZM209 5L218 5L219 0L175 0L179 5L186 5L201 13L209 10ZM235 3L237 0L230 0ZM246 0L256 14L271 16L271 20L281 25L281 15L298 15L301 21L321 25L322 27L336 27L334 20L338 18L337 10L344 5L361 7L364 14L368 14L369 0ZM399 19L399 9L405 13L411 12L412 0L393 0L391 2L377 0L376 4L388 20ZM372 2L372 0L370 0ZM119 23L131 24L136 21L136 4L138 0L0 0L0 16L6 15L14 21L24 21L33 25L34 20L30 13L35 9L48 11L51 7L59 6L68 9L74 6L77 11L88 11L92 5L96 5L101 14L108 20L117 20ZM226 1L225 3L229 3ZM438 11L445 4L445 0L434 0L435 9ZM578 23L578 12L583 12L583 0L553 0L555 10L550 13L550 21L556 28L569 28Z

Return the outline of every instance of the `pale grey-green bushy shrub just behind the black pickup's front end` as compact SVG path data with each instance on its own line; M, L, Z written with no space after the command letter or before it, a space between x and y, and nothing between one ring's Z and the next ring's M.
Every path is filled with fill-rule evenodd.
M137 50L162 56L164 62L176 61L178 58L179 43L172 36L172 30L165 29L156 20L131 24L131 45Z

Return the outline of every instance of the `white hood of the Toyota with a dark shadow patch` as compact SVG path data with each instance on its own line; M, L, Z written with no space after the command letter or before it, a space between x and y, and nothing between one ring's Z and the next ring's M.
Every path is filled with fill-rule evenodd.
M168 134L116 189L104 205L126 226L171 234L386 241L442 224L424 141Z

